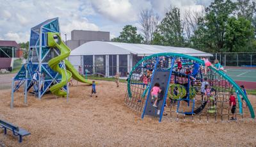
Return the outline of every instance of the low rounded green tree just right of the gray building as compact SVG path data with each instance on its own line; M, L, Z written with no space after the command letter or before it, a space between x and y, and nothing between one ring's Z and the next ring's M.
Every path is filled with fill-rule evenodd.
M137 34L137 27L126 25L123 31L120 32L120 36L112 39L113 42L125 42L125 43L141 43L143 37Z

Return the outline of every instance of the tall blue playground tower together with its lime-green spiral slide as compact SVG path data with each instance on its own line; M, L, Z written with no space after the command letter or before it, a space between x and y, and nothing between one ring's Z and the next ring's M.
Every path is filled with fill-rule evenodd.
M59 19L49 19L31 28L28 59L26 64L12 80L12 102L14 93L24 85L24 103L27 104L27 93L42 98L51 91L58 97L67 97L71 77L79 82L92 84L79 75L67 60L70 49L63 43L60 36Z

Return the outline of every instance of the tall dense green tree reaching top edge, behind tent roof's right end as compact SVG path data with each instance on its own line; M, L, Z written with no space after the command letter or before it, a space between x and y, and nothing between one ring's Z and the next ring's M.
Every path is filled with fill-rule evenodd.
M236 10L236 3L230 0L215 0L205 8L205 17L198 23L198 30L193 38L195 47L203 47L205 51L225 51L225 33L228 18Z

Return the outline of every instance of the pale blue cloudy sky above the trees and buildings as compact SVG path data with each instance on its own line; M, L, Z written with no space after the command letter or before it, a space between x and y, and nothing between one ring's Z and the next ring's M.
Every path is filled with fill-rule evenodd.
M152 9L162 19L170 6L201 10L212 0L0 0L0 40L28 42L31 27L59 17L61 36L73 29L109 31L119 35L131 24L140 32L141 10Z

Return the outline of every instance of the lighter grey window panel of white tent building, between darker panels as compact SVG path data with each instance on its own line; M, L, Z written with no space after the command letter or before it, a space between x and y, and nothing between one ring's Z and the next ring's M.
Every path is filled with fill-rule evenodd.
M102 75L106 74L106 56L97 55L95 56L95 73Z

